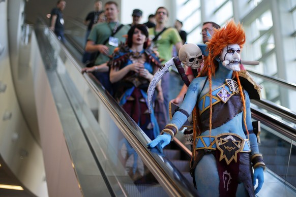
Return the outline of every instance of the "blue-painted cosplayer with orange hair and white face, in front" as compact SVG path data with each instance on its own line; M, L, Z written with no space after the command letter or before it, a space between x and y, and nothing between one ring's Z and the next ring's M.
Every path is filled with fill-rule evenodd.
M201 196L255 196L264 182L265 164L250 111L250 98L260 98L260 87L246 71L240 71L244 43L242 25L233 20L215 29L206 50L201 49L208 56L189 85L183 104L161 135L148 144L168 145L192 113L190 167Z

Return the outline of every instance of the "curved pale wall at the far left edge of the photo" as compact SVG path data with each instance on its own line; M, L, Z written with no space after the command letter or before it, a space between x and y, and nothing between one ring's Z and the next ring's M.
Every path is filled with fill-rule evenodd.
M12 177L5 177L7 180L19 181L36 196L48 196L41 147L23 117L11 72L12 65L18 65L23 8L22 0L0 1L0 44L4 47L0 54L0 82L6 85L5 91L0 91L0 154L5 161L2 165L13 173Z

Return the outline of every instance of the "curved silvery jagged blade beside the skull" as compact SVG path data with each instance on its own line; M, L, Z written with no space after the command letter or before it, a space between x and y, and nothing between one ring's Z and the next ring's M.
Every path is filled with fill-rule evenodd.
M173 57L174 58L174 57ZM160 79L164 76L164 74L166 74L168 72L168 68L171 65L174 65L174 61L173 58L171 58L170 60L168 60L167 62L165 62L163 64L163 67L161 67L159 69L159 71L157 71L152 80L150 81L150 84L148 86L148 90L147 90L147 99L148 99L148 109L149 109L149 113L151 113L151 106L152 106L152 97L154 94L154 90L156 88L156 84L160 81Z

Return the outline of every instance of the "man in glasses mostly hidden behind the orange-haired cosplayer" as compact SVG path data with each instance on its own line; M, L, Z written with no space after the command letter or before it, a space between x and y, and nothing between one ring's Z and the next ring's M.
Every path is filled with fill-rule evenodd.
M219 29L220 26L215 22L204 22L202 24L202 29L200 34L202 35L202 42L204 44L208 42L208 40L213 36L214 28ZM202 69L202 66L203 66L203 63L201 64L201 67L199 68L199 70ZM190 67L187 67L186 75L188 77L188 80L191 82L194 78L194 75ZM187 92L187 89L188 87L184 84L179 94L173 100L171 100L171 102L176 105L180 105Z

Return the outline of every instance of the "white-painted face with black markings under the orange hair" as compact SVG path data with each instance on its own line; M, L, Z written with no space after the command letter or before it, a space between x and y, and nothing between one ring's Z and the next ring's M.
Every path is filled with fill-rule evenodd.
M227 45L220 53L220 60L224 67L232 71L240 71L241 64L241 48L238 44Z

